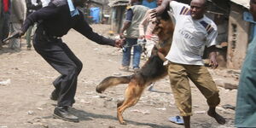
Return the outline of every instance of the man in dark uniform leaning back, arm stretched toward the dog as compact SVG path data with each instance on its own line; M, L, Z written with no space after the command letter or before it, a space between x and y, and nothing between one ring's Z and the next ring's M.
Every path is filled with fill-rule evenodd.
M104 38L92 31L84 20L83 13L77 7L83 7L86 0L53 0L48 6L28 15L19 35L23 35L29 26L38 22L33 46L44 60L54 67L61 76L55 79L55 90L51 99L58 100L53 116L72 122L79 118L68 111L73 105L79 73L83 67L79 58L63 43L61 37L73 28L97 44L121 47L123 40Z

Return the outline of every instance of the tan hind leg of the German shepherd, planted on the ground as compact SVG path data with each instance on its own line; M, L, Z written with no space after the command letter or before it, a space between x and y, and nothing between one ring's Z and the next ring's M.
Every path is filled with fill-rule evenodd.
M128 85L127 89L125 90L125 100L117 104L117 117L121 125L126 125L126 122L124 121L124 118L122 116L125 109L134 106L139 101L140 97L142 96L143 90L144 86L135 84L135 82L131 82Z

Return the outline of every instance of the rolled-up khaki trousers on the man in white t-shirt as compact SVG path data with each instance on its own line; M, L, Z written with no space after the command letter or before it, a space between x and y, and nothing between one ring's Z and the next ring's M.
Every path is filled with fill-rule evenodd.
M192 115L192 100L189 79L207 98L209 107L218 106L220 99L218 88L212 80L207 67L183 65L170 62L168 75L171 81L173 96L181 116Z

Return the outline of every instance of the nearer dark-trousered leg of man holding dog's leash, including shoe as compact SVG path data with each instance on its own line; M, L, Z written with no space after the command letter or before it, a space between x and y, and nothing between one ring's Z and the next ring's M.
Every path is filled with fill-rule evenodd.
M58 105L55 108L54 117L67 121L77 122L78 117L68 112L68 107L73 105L74 96L77 87L77 78L82 69L82 62L77 57L67 50L66 44L63 44L61 39L55 41L40 41L34 43L34 48L38 54L44 57L44 60L55 68L63 78L60 84L60 95Z

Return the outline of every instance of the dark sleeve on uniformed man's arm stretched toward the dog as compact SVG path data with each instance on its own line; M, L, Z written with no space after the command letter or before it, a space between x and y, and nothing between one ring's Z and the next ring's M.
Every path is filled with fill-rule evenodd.
M92 28L84 20L84 16L81 12L79 14L78 23L76 24L76 26L73 27L73 29L84 35L86 38L89 38L91 41L96 42L97 44L108 44L110 46L114 46L115 44L115 41L113 39L104 38L96 32L93 32Z

